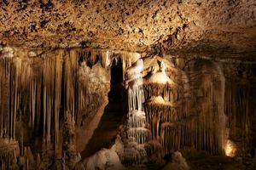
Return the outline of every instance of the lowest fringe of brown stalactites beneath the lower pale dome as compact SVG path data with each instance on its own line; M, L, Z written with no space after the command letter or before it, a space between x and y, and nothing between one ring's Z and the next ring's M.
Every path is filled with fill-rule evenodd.
M145 112L151 131L151 140L161 144L165 154L180 149L183 115L172 105L146 103Z

